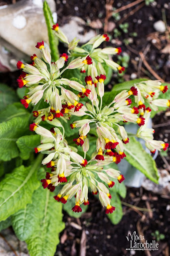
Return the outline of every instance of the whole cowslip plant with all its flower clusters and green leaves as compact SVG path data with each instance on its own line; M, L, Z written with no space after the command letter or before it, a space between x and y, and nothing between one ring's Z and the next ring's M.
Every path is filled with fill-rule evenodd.
M107 34L80 46L53 23L46 1L44 14L50 48L35 42L39 54L32 52L30 64L17 62L20 102L0 84L0 230L12 225L31 256L54 255L62 209L80 217L91 192L117 224L120 196L126 196L119 162L126 159L158 183L152 156L169 146L154 139L148 122L170 107L170 85L136 79L105 91L112 72L125 70L116 62L121 48L107 47ZM128 123L138 127L135 134L127 132Z

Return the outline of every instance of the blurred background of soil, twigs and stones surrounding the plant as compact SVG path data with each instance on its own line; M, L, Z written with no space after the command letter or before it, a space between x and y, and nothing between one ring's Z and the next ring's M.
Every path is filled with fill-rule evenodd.
M122 47L118 62L124 74L114 73L106 90L118 82L145 77L170 82L169 0L48 0L54 22L69 40L85 43L98 33L108 33L107 45ZM20 71L18 59L27 60L37 41L48 44L42 0L0 0L0 82L13 88ZM63 44L59 44L64 52ZM36 53L36 52L35 52ZM170 141L170 110L153 119L155 139ZM170 248L170 150L159 154L156 163L160 184L145 178L140 187L129 186L122 199L123 218L113 225L99 201L91 195L88 211L80 218L64 213L66 229L61 233L58 256L147 255L169 256ZM134 180L135 184L135 180ZM153 211L148 211L152 209ZM156 251L128 251L126 236L136 231L145 239L159 242ZM28 255L12 229L0 233L0 255ZM5 251L3 253L3 251ZM3 253L3 254L2 254Z

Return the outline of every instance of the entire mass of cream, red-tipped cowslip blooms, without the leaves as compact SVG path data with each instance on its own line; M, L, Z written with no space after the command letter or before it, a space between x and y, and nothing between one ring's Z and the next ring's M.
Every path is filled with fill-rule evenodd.
M29 103L36 105L41 99L48 103L48 107L33 111L36 118L29 128L41 136L41 144L34 149L36 153L47 154L42 164L51 168L41 179L42 186L54 191L55 186L62 183L63 186L54 199L65 204L75 196L75 206L72 207L75 212L82 211L82 203L89 204L89 190L93 194L98 193L101 204L106 207L106 213L112 213L115 206L111 205L109 188L115 185L114 178L117 178L116 182L121 183L125 177L117 169L104 169L104 166L113 162L119 163L126 157L124 145L130 138L123 123L132 122L139 125L136 136L146 141L146 146L152 153L156 149L166 150L168 143L154 140L155 131L148 128L147 123L151 108L156 110L157 106L170 106L170 100L158 99L160 92L165 93L168 87L158 80L141 81L134 84L130 90L119 92L103 107L106 72L102 63L105 62L118 72L124 71L124 67L109 59L109 55L120 54L121 48L97 48L103 41L109 40L107 34L95 36L82 47L78 47L76 39L69 43L58 23L54 24L52 29L58 39L68 44L70 55L62 53L57 61L51 62L49 49L42 41L37 42L35 46L39 48L42 59L33 54L32 64L17 62L17 68L23 70L17 80L18 86L28 88L21 103L25 108ZM87 45L91 45L90 51L84 49ZM80 56L68 61L75 52ZM67 69L79 69L80 72L87 73L84 82L62 77ZM135 106L132 107L133 97ZM146 107L145 102L150 106ZM71 123L68 129L79 128L79 135L73 141L82 147L83 156L65 139L67 130L64 130L60 121L62 119L67 122L73 115L77 116L77 120ZM50 130L44 128L41 125L44 121L54 127ZM91 145L88 135L91 129L96 135L96 150L87 160L86 153Z

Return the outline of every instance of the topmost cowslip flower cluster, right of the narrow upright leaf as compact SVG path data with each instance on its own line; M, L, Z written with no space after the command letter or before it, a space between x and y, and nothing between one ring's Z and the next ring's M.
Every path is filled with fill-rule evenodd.
M54 27L57 27L57 29ZM61 40L60 34L58 33L58 31L61 30L59 29L58 23L53 25L52 29L56 30L56 36ZM68 52L71 56L80 55L86 57L86 60L84 60L85 65L83 67L79 67L80 72L87 72L88 75L92 76L95 83L98 82L96 79L98 74L106 74L103 64L108 65L119 73L122 73L125 70L124 66L119 65L109 57L110 55L120 54L122 52L121 47L98 48L102 42L109 41L108 34L99 34L91 38L81 47L77 45L79 40L76 40L76 38L74 38L70 43L68 42L66 35L64 35L64 38L62 38L62 41L68 45Z

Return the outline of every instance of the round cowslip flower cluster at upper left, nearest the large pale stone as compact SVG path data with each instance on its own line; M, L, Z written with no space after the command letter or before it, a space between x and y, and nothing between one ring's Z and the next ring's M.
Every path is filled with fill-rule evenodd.
M78 57L63 68L68 60L66 53L61 54L56 62L51 62L50 52L47 47L44 47L44 42L38 42L36 47L40 49L42 59L33 54L31 56L32 64L17 62L17 68L23 70L17 79L18 86L20 88L26 86L29 89L27 95L21 99L21 103L25 108L30 102L36 105L42 98L49 103L48 108L34 111L34 116L40 116L39 121L53 120L55 117L63 116L63 112L66 112L67 109L78 111L82 107L79 97L65 87L75 89L82 95L89 94L90 90L77 81L62 78L61 74L66 69L83 67L86 57ZM63 69L60 70L61 68Z

